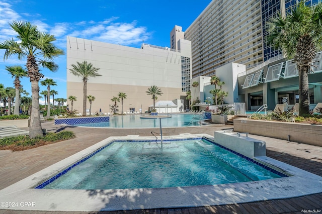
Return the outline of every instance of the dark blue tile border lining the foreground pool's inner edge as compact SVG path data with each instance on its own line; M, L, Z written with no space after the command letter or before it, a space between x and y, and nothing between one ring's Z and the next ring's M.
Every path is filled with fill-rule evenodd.
M264 164L262 164L262 163L260 163L260 162L255 161L255 160L254 160L254 159L252 159L252 158L249 158L249 157L247 157L247 156L245 156L245 155L242 155L242 154L240 154L240 153L238 153L238 152L235 152L235 151L233 151L233 150L231 150L231 149L228 149L228 148L226 148L226 147L224 147L224 146L222 146L222 145L220 145L220 144L218 144L218 143L216 143L216 142L213 142L212 140L210 140L210 139L208 139L208 138L206 138L206 137L197 137L197 138L178 138L178 139L165 139L165 140L163 140L163 141L164 141L164 142L165 142L165 141L166 141L166 142L169 142L169 141L184 141L184 140L205 140L205 141L207 141L207 142L209 142L209 143L212 143L212 144L214 144L214 145L216 145L216 146L218 146L218 147L220 147L220 148L223 148L223 149L225 149L225 150L227 150L227 151L229 151L229 152L232 152L233 154L236 154L236 155L238 155L238 156L239 156L239 157L241 157L241 158L244 158L244 159L246 159L246 160L248 160L248 161L250 161L250 162L253 162L253 163L255 163L255 164L257 164L257 165L259 165L259 166L263 167L264 169L269 170L269 171L271 171L271 172L273 172L273 173L275 173L275 174L277 174L277 175L279 175L279 176L281 176L281 177L289 177L288 175L286 175L286 174L284 174L284 173L282 173L282 172L280 172L280 171L277 171L277 170L275 170L275 169L272 169L272 168L270 168L270 167L268 167L268 166L266 166L266 165L264 165ZM77 161L76 163L72 164L71 166L67 167L67 168L66 168L66 169L64 169L63 171L59 172L59 173L58 173L58 174L56 174L55 176L53 176L53 177L49 178L48 180L44 181L43 183L41 183L41 184L37 185L37 186L36 186L36 187L34 187L34 188L35 188L35 189L42 189L42 188L44 188L45 186L47 186L48 184L50 184L51 182L53 182L54 180L56 180L56 179L57 179L57 178L59 178L60 176L62 176L62 175L64 175L65 173L67 173L67 172L68 172L69 170L71 170L73 167L77 166L77 165L78 165L78 164L80 164L80 163L83 163L84 161L86 161L87 159L91 158L93 155L95 155L95 154L97 154L98 152L102 151L103 149L105 149L106 147L108 147L109 145L111 145L111 144L112 144L112 143L114 143L114 142L128 142L128 143L136 143L136 142L151 142L151 140L113 140L112 142L110 142L110 143L106 144L105 146L103 146L103 147L99 148L98 150L94 151L93 153L91 153L90 155L86 156L86 157L85 157L85 158L83 158L82 160ZM161 142L161 141L160 141L160 140L157 140L157 142Z

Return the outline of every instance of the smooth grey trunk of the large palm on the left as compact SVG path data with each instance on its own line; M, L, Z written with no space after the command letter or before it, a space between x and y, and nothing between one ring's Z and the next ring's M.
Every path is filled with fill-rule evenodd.
M29 127L29 137L35 138L38 135L43 135L41 123L40 123L40 111L39 111L39 85L37 80L31 81L32 91L32 105L31 105L31 117Z

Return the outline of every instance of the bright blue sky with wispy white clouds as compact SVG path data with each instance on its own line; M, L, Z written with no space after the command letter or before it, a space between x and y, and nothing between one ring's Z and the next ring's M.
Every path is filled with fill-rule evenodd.
M139 48L144 43L169 47L170 31L175 25L185 31L211 0L0 0L0 42L15 38L8 23L29 21L41 31L55 35L56 46L66 52L66 37L90 39ZM3 60L0 50L0 83L13 87L13 79L6 66L25 66L26 60L15 57ZM44 78L52 78L58 91L55 98L66 98L66 55L54 60L59 69L55 73L42 69ZM22 79L31 92L28 78ZM40 91L46 86L40 86ZM43 104L43 100L40 103Z

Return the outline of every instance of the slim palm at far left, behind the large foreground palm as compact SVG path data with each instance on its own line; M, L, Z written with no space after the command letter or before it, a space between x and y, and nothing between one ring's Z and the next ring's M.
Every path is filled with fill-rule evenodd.
M22 85L20 84L20 77L27 76L27 71L21 67L20 65L17 66L6 66L6 70L9 71L9 73L12 75L12 77L15 77L14 85L16 88L16 103L15 103L15 110L14 115L19 115L19 100L20 100L20 88L22 88Z

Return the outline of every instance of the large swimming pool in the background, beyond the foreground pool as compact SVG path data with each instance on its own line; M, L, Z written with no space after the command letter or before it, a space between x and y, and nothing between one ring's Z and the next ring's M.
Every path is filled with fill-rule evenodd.
M106 128L158 128L159 119L140 118L141 115L111 116L110 122L75 124L83 127L106 127ZM203 120L202 114L178 114L170 118L163 118L162 127L187 127L199 126Z

